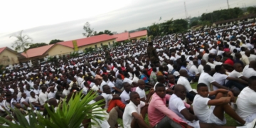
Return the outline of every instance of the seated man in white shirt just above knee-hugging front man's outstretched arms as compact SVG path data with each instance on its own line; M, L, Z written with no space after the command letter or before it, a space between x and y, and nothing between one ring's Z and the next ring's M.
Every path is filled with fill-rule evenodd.
M225 68L223 67L223 65L216 65L215 71L216 73L213 75L213 78L220 85L225 85L225 87L229 88L235 86L238 87L239 90L242 90L245 86L240 83L247 84L245 80L228 77L228 75L225 74ZM226 84L225 80L228 80ZM218 87L213 86L213 90L218 90Z

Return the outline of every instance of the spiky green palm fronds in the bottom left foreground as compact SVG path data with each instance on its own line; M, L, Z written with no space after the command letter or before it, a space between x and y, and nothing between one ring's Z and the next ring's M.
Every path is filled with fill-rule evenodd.
M102 100L95 102L93 104L89 104L90 101L94 100L97 95L89 92L84 98L82 98L82 93L73 94L73 98L70 98L68 103L63 102L62 109L57 109L56 112L50 110L50 107L47 105L45 109L48 112L49 117L43 117L41 114L34 114L33 112L29 112L29 123L28 120L24 117L20 110L14 110L16 113L16 117L18 119L17 122L10 122L4 117L0 117L0 122L6 122L9 126L6 127L15 127L15 128L78 128L82 127L82 121L84 119L100 119L102 120L102 109L100 108L100 103ZM59 105L60 107L60 105ZM92 124L92 123L90 123ZM0 125L0 127L5 127Z

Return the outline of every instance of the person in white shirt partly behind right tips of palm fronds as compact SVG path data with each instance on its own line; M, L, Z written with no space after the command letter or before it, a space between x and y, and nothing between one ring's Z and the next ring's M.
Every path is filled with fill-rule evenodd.
M103 117L103 119L102 120L100 120L100 119L95 119L95 120L91 119L91 122L94 123L94 124L92 124L91 127L92 128L102 128L102 127L110 128L110 124L107 122L107 120L110 117L110 114L108 114L106 112L106 110L102 111L103 114L97 114L97 113L99 113L99 110L104 109L105 104L106 104L106 102L104 100L104 97L102 97L101 95L99 95L95 98L95 102L100 101L100 100L103 100L103 101L100 102L100 104L99 104L100 107L96 107L95 109L92 110L92 116L100 116L100 117Z

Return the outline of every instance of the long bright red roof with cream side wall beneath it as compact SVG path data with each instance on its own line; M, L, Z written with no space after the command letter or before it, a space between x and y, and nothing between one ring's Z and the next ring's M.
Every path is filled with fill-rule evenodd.
M98 36L91 36L88 38L80 38L77 40L73 40L77 42L77 46L78 46L78 50L85 50L85 48L102 48L102 46L108 46L109 48L114 45L114 43L116 42L116 38L114 36L110 36L107 34L102 34L102 35L98 35ZM62 45L62 46L67 46L69 48L74 48L73 46L73 41L64 41L64 42L60 42L58 44Z

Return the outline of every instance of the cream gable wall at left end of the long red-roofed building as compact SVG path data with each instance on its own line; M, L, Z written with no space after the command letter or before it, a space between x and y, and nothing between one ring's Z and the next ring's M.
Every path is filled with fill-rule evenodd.
M62 46L62 45L55 45L53 46L53 48L50 48L50 50L48 50L48 55L50 56L55 56L55 55L65 55L65 54L70 54L71 52L73 52L74 49L67 47L67 46ZM46 54L47 54L46 53Z

